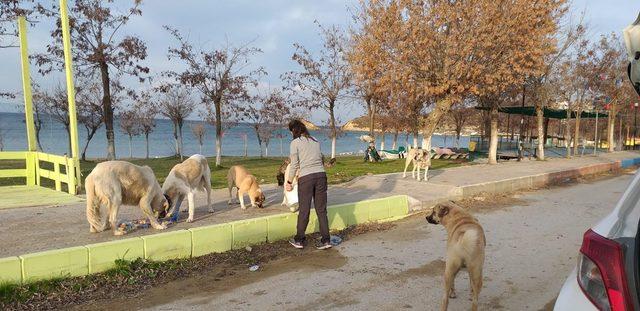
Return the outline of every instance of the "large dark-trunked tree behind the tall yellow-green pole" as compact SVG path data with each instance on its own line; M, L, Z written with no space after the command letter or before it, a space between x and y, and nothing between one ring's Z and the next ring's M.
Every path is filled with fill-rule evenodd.
M76 74L93 77L98 73L102 82L102 110L108 159L116 157L111 74L115 70L118 74L144 80L143 75L149 73L149 68L140 65L147 57L145 43L136 36L123 36L120 33L133 16L142 15L141 2L133 0L128 10L122 11L113 7L114 0L75 0L69 10ZM58 11L55 4L50 11ZM64 65L61 27L62 24L57 23L56 29L51 32L54 42L47 45L47 52L34 56L43 74Z

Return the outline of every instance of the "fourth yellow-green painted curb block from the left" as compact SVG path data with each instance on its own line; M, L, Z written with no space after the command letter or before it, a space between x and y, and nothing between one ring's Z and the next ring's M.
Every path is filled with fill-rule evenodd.
M191 231L178 230L143 236L144 258L169 260L191 257Z

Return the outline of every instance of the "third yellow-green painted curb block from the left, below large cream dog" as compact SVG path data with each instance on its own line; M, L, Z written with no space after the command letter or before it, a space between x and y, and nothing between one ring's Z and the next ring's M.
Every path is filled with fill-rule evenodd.
M89 244L89 273L97 273L115 267L117 259L144 258L144 241L141 238Z

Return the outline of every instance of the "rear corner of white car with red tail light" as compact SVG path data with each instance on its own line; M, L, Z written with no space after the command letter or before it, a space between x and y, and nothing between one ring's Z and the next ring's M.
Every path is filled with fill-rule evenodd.
M611 214L584 234L554 310L640 310L640 171Z

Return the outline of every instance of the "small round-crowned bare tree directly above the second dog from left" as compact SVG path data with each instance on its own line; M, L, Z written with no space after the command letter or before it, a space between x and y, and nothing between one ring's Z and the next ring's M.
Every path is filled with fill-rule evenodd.
M184 120L193 113L196 105L189 92L183 86L177 84L163 85L160 87L160 92L162 96L158 109L160 114L169 118L173 124L176 152L180 156L180 160L183 160L182 127Z

